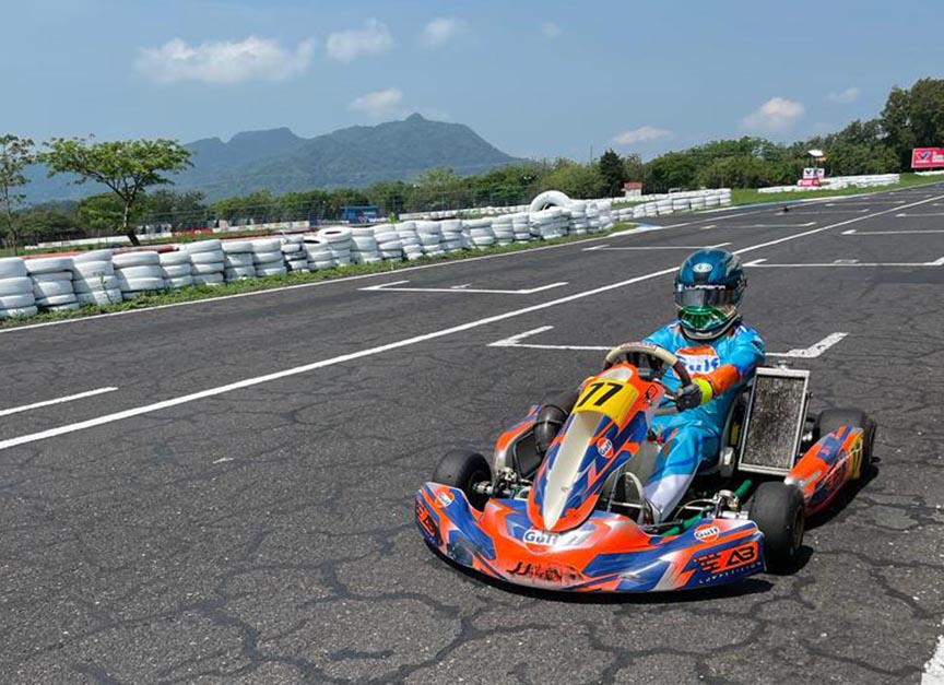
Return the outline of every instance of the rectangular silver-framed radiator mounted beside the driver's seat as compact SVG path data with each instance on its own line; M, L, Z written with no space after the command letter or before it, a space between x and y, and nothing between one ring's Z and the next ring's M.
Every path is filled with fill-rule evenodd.
M810 371L757 369L747 402L738 468L787 475L800 453Z

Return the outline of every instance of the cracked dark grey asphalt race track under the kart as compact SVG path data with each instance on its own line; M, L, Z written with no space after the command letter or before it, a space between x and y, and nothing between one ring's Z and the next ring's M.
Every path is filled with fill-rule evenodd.
M0 411L0 681L920 682L944 631L944 186L665 223L0 332L0 410L117 388ZM848 333L793 359L814 408L878 421L876 476L802 567L575 601L436 558L412 498L439 456L598 368L563 347L662 324L671 270L719 244L755 264L769 351ZM362 290L403 280L436 290Z

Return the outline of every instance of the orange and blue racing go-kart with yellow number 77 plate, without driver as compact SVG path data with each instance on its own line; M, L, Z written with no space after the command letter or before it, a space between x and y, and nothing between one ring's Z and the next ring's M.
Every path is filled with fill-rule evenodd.
M670 369L692 382L669 351L620 345L580 385L546 453L541 405L498 438L491 462L447 453L416 494L426 542L485 576L562 591L682 590L795 568L806 517L871 463L875 423L858 410L810 417L809 371L759 368L711 469L654 523L639 486L658 454L653 417L677 411Z

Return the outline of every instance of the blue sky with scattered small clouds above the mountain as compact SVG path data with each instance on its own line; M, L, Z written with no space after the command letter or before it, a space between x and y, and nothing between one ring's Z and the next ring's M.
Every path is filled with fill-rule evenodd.
M835 130L944 64L940 0L20 0L4 15L0 133L37 140L311 137L420 111L515 155L651 157Z

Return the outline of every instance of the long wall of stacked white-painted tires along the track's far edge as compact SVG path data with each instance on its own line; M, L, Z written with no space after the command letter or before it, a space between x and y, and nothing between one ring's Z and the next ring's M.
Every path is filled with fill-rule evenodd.
M713 194L712 194L713 193ZM155 249L93 250L67 257L0 259L0 318L30 316L43 308L108 305L140 293L216 285L287 272L317 271L380 260L414 260L463 249L553 239L613 228L615 221L671 213L731 201L731 191L656 196L614 208L610 200L569 200L542 193L546 209L500 208L495 215L408 220L374 226L329 226L317 233L269 238L210 239ZM725 200L727 198L727 200ZM693 201L694 199L694 201ZM699 201L700 199L700 201ZM566 205L563 205L566 200ZM559 203L559 204L558 204ZM483 213L492 212L485 208Z

